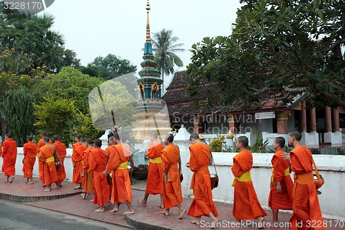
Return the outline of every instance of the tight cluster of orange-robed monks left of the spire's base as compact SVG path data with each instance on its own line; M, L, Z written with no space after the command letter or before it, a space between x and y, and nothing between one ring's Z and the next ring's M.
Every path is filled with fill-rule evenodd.
M134 162L130 147L120 140L120 136L121 133L115 131L106 150L101 149L101 140L87 138L84 141L80 135L75 136L75 144L72 144L72 183L77 184L75 189L83 189L83 199L89 193L94 194L93 203L98 206L96 212L105 211L104 203L110 201L115 204L112 213L119 211L123 202L128 207L124 214L134 213L128 170L128 162L131 169Z

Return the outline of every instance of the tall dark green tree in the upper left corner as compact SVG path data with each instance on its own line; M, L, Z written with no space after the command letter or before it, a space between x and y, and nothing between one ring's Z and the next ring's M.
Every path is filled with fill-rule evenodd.
M48 72L57 73L69 63L79 63L64 48L63 35L52 30L52 15L26 15L17 10L3 8L0 3L0 51L6 48L34 54L34 64L46 66ZM70 61L70 58L73 58ZM80 65L80 64L79 64Z

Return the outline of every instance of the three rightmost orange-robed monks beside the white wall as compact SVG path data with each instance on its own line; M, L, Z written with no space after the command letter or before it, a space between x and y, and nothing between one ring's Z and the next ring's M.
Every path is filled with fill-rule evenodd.
M275 138L273 148L276 153L271 160L273 169L270 183L268 207L272 209L273 223L270 227L278 227L279 209L293 210L290 229L327 229L322 218L317 189L313 177L313 157L311 151L300 143L302 134L299 131L288 133L288 145L293 146L290 153L283 151L285 140ZM244 136L237 138L236 148L239 153L233 159L231 171L235 176L233 182L234 204L233 216L235 223L241 220L257 219L257 227L264 227L264 216L253 182L250 169L253 167L253 155L247 149L248 139ZM293 171L294 182L290 178Z

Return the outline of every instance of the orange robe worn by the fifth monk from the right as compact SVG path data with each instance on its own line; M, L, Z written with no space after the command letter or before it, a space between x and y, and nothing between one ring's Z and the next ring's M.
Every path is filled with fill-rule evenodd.
M161 151L161 167L166 172L166 183L163 186L164 208L171 209L183 201L181 180L179 179L179 147L169 144Z

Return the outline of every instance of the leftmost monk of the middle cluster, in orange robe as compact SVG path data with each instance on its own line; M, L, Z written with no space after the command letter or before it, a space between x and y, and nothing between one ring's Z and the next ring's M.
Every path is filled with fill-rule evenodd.
M83 186L81 184L83 181L81 180L81 173L83 171L83 166L82 166L83 151L85 151L87 147L83 145L84 140L82 137L80 137L80 135L76 135L75 140L77 142L75 144L72 144L72 163L73 163L72 183L79 184L79 186L76 186L75 189L82 189Z

